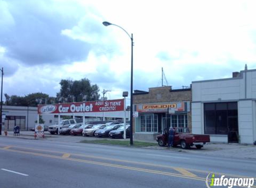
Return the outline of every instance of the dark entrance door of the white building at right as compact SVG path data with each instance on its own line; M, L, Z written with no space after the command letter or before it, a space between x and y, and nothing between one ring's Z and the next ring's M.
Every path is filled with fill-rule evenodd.
M237 117L228 117L228 143L239 143Z

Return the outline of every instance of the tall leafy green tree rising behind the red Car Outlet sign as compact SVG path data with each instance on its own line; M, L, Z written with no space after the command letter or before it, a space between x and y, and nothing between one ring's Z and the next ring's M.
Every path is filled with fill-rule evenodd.
M82 102L98 99L99 87L97 84L91 85L87 78L81 80L61 80L60 92L57 93L59 102Z

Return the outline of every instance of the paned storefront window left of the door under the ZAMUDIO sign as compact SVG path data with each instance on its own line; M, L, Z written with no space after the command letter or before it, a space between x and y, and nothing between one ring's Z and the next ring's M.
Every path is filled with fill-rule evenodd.
M141 114L140 131L141 132L158 132L157 114Z

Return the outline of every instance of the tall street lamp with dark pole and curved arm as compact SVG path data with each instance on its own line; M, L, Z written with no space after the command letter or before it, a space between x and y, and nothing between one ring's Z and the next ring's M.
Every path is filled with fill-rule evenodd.
M109 25L115 25L111 24L107 21L102 22L103 25L109 26ZM120 27L119 25L115 25L122 29L130 38L131 40L131 76L130 76L130 145L133 145L133 34L131 33L131 36L125 29Z

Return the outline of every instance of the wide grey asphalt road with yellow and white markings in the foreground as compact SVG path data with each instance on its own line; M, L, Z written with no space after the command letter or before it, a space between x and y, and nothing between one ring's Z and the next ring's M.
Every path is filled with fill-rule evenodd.
M206 188L210 172L256 177L256 161L68 140L0 138L0 188Z

